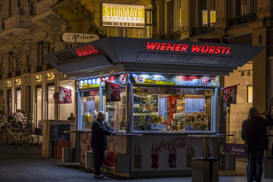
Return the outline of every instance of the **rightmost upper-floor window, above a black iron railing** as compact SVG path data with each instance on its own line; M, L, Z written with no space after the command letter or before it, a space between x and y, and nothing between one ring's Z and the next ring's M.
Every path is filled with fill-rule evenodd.
M257 6L257 0L232 0L232 16L257 12Z

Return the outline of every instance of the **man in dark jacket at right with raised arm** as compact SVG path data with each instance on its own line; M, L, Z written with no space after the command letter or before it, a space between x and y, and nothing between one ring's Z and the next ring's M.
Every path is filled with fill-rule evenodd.
M256 181L262 179L262 161L265 149L268 148L266 126L273 125L273 119L268 111L262 112L266 119L259 116L257 108L250 108L250 117L242 123L241 138L245 141L245 152L249 155L247 181L253 182L253 169L256 161Z

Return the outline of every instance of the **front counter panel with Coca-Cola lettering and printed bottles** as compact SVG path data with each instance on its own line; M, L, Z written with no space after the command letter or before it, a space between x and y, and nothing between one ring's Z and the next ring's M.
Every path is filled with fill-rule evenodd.
M132 137L131 143L131 171L191 170L191 158L203 156L203 140L187 135ZM208 156L216 157L213 139L208 146Z

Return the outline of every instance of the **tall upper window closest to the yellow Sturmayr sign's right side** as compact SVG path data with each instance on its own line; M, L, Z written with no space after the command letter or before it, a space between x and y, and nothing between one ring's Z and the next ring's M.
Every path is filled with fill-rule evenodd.
M180 30L181 26L181 8L180 0L166 0L165 1L165 22L166 33Z

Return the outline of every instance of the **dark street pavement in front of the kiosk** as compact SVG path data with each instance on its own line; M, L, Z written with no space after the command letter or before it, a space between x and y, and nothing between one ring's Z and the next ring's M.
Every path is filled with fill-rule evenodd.
M246 181L246 161L236 161L236 171L219 171L219 182ZM90 181L141 181L141 182L191 182L191 176L168 176L150 178L126 178L102 173L103 179L93 178L93 170L79 166L79 163L62 163L61 159L42 157L41 141L35 146L0 145L0 182L90 182ZM202 179L200 179L202 181ZM272 182L264 179L263 182Z

